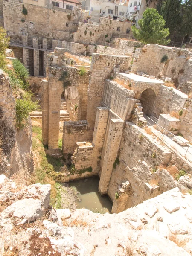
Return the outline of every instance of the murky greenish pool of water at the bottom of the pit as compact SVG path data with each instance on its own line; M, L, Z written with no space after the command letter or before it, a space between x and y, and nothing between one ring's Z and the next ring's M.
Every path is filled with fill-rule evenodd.
M86 181L86 182L85 182ZM79 201L77 209L86 208L93 212L111 213L112 203L108 196L100 196L98 192L99 178L92 177L85 180L75 180L70 182L70 186L75 187Z

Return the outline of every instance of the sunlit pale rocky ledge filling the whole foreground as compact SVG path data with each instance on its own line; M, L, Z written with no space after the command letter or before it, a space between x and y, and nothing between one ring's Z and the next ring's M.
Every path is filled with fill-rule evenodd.
M113 215L52 209L50 190L0 175L0 255L192 255L192 195L177 188Z

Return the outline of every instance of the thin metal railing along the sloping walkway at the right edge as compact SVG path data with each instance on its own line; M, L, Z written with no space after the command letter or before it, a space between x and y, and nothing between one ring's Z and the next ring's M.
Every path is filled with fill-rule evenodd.
M190 163L192 163L192 153L189 152L189 148L191 148L191 150L192 150L192 146L191 146L191 145L189 145L189 144L183 142L183 140L180 140L180 139L178 138L178 136L177 136L177 140L180 140L182 143L184 143L184 144L185 144L185 147L187 146L187 149L186 149L186 148L183 148L184 146L182 147L182 149L185 150L185 154L183 155L180 151L178 151L175 147L173 147L172 145L170 145L168 142L166 142L166 141L163 139L163 137L166 136L166 133L171 134L172 137L176 137L176 136L175 136L174 134L172 134L170 131L166 130L166 129L165 129L164 127L162 127L161 125L157 124L157 122L155 122L155 121L154 121L153 119L151 119L150 117L147 117L147 123L151 124L148 120L151 120L153 123L155 123L155 125L158 125L161 129L163 129L163 132L160 131L160 132L162 133L160 137L157 136L157 134L155 134L160 140L163 141L163 143L165 143L166 145L169 145L169 148L170 148L170 147L173 148L173 149L176 150L179 154L181 154L183 157L185 157L186 160L188 160ZM153 125L153 124L151 124L151 125ZM171 138L169 138L169 139L171 139ZM174 140L173 140L173 141L174 141ZM175 142L175 141L174 141L174 142ZM180 146L181 146L181 145L180 145ZM186 157L186 154L187 154L187 153L191 155L190 158L189 158L189 157Z

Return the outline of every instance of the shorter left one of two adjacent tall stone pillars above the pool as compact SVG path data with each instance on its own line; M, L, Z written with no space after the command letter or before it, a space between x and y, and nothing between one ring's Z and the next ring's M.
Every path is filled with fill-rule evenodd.
M109 108L98 107L96 112L95 128L93 132L93 169L99 172L99 164L105 132L108 122Z

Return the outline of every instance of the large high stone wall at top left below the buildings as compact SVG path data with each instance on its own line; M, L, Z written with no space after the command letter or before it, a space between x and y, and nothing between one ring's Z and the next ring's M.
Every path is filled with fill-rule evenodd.
M42 38L48 38L48 41L72 41L71 33L77 31L79 21L87 16L86 12L77 8L70 14L62 9L52 10L26 3L24 6L28 12L26 17L22 14L20 0L3 1L5 29L9 32L11 41L22 42L22 35L28 35L29 38L35 35L38 37L38 43L42 43Z

